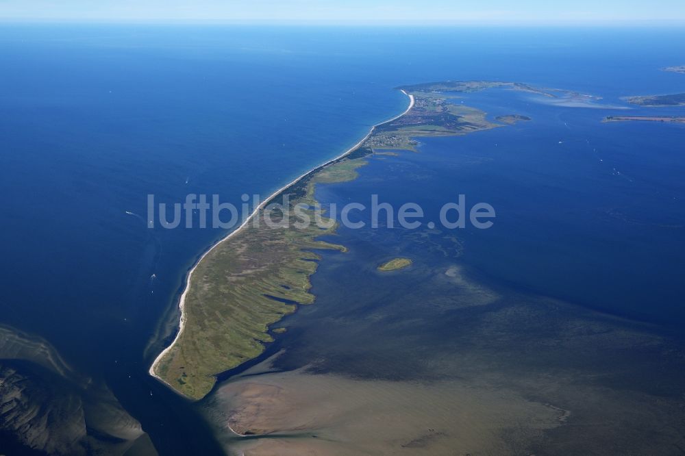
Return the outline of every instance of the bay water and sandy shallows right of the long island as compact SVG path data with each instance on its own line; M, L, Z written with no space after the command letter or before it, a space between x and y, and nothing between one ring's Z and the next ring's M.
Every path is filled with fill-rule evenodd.
M411 198L429 217L447 189L490 201L500 215L490 230L340 227L325 237L347 253L322 253L312 276L316 305L282 320L288 331L278 353L236 372L203 403L227 451L676 455L685 448L682 339L644 317L645 303L664 312L657 283L677 266L616 248L655 231L680 245L683 214L647 224L608 209L621 203L634 214L650 195L661 201L645 174L620 160L642 147L646 129L662 128L651 163L673 166L673 155L660 151L670 149L667 132L677 125L601 123L597 107L516 92L473 92L464 101L487 105L491 116L520 112L533 121L422 138L415 151L366 157L355 181L317 188L324 203L362 201L373 191L395 204ZM623 201L626 192L643 199ZM531 217L540 206L545 216ZM412 258L412 267L377 273L393 257Z

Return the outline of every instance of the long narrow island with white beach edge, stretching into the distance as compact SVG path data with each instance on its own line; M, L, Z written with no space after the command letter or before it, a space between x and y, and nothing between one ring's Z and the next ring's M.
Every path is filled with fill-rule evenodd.
M557 96L553 90L507 82L441 81L398 87L408 97L405 112L375 125L348 151L275 192L199 259L179 300L179 330L153 362L150 374L198 400L212 390L216 375L258 357L277 334L272 325L298 305L314 302L310 276L320 259L316 251L346 251L345 246L319 240L335 233L333 220L329 228L303 228L296 225L301 220L284 217L284 211L305 204L310 207L306 215L313 218L316 186L355 179L364 159L375 151L416 151L422 137L508 125L489 121L474 107L450 102L460 93L488 88Z

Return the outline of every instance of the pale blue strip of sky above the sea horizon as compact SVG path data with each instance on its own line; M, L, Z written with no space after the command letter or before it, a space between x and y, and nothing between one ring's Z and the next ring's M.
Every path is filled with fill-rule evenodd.
M685 0L0 0L0 18L474 25L685 24Z

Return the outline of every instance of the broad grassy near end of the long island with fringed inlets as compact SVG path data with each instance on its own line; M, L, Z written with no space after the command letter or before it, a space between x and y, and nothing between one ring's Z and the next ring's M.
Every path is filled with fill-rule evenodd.
M306 194L295 202L308 199L316 182L316 176L310 178ZM267 218L279 226L268 226ZM184 303L184 330L155 368L177 392L203 398L216 375L264 351L264 343L273 340L269 325L298 304L314 302L309 277L319 255L313 251L345 247L316 240L334 233L334 223L329 229L295 228L296 221L286 223L278 210L260 210L256 223L197 264Z

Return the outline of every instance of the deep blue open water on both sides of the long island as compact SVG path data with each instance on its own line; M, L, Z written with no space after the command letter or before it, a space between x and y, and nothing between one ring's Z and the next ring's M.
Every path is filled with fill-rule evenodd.
M456 233L454 255L473 275L677 334L685 127L601 120L624 114L614 109L621 97L684 92L685 75L660 71L683 55L678 29L5 25L0 323L103 380L161 454L218 451L196 407L147 370L188 268L225 231L148 229L147 195L266 197L402 112L396 86L462 79L602 99L577 107L470 94L465 103L493 116L532 121L373 159L361 179L339 184L353 188L345 197L377 193L433 215L458 194L490 203L492 229ZM336 188L320 197L336 199ZM411 244L391 239L377 245ZM388 255L377 249L367 261ZM335 277L325 265L315 291Z

